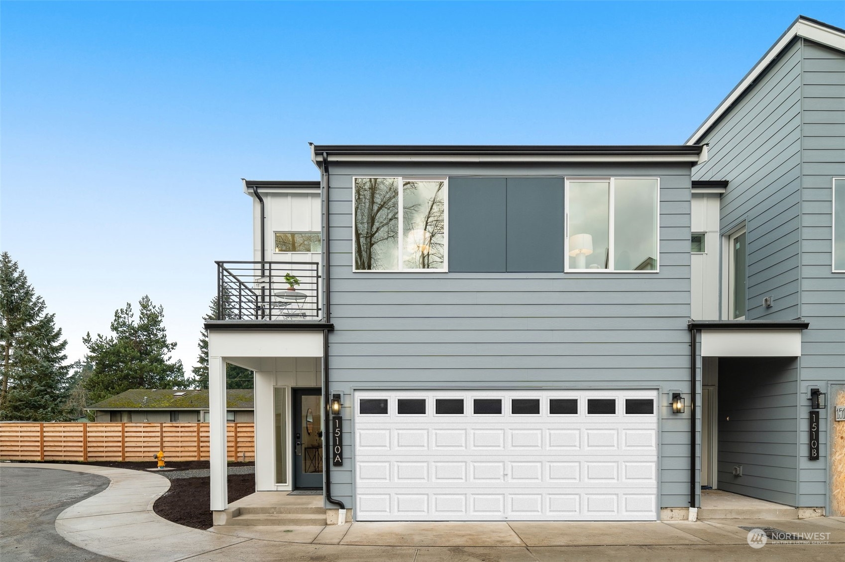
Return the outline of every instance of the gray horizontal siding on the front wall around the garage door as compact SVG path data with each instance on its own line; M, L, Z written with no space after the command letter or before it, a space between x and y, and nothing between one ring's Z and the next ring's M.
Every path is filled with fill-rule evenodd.
M667 390L689 380L688 165L385 163L335 164L331 172L333 390L653 388L668 404ZM450 182L555 177L561 185L566 176L660 177L660 271L352 273L352 176L391 174L448 176ZM450 208L450 248L451 237L466 231L453 229L456 220ZM479 252L495 251L479 246ZM460 269L453 260L461 255L450 255L450 268ZM673 416L668 406L661 410L661 505L685 506L689 419ZM352 417L351 410L345 413ZM332 492L351 506L352 423L345 420L344 430L350 460L332 470Z

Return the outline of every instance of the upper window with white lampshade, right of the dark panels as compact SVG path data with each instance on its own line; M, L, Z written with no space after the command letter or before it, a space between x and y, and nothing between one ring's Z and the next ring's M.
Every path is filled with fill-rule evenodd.
M657 271L657 177L566 182L567 271Z

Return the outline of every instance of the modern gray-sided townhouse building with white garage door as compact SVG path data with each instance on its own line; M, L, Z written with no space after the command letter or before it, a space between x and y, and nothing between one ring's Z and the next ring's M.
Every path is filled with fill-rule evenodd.
M256 489L359 521L657 520L708 485L845 514L832 407L809 458L813 389L845 406L843 51L796 20L687 145L312 145L320 182L245 180L215 516L226 363Z

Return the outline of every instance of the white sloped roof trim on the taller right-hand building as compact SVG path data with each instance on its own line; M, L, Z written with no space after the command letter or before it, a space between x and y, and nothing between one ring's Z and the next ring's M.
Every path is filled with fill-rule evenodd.
M766 70L766 67L769 66L771 61L774 60L775 57L782 52L784 47L786 47L795 37L804 37L804 39L815 41L820 45L829 46L832 49L837 49L839 51L845 51L845 34L841 31L831 30L829 27L816 24L814 21L809 21L807 19L796 19L795 23L786 30L786 32L781 35L781 38L771 46L762 58L760 58L760 61L755 64L754 68L751 68L750 72L745 74L745 78L742 79L742 81L739 82L733 90L731 90L728 97L719 104L716 110L710 114L710 117L707 117L704 123L701 123L701 126L695 130L695 133L692 134L692 136L687 139L684 144L699 144L699 139L701 139L701 136L706 133L707 129L711 128L711 126L722 117L722 114L728 111L728 107L732 106L733 102L737 101L740 95L743 95L744 91L751 85L751 83L754 82L764 70Z

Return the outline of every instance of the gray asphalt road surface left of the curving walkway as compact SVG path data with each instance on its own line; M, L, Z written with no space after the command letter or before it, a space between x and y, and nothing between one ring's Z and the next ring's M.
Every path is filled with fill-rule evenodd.
M58 514L108 487L106 477L83 472L0 469L0 559L3 562L112 560L74 546L56 532Z

